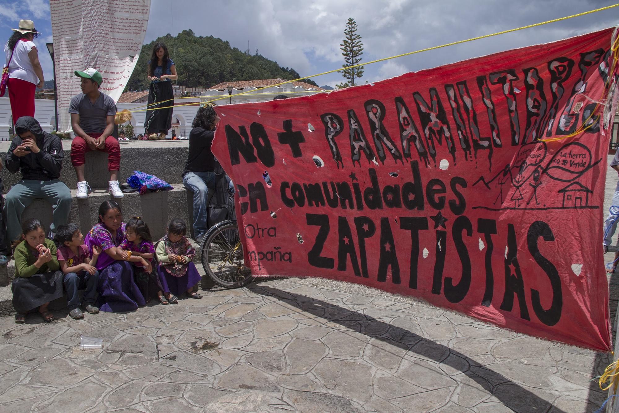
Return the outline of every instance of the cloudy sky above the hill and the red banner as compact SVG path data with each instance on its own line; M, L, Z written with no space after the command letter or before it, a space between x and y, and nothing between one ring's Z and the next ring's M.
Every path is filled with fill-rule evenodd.
M0 0L0 33L11 35L19 19L35 21L42 32L39 45L46 79L51 59L48 0ZM256 48L280 66L309 76L341 67L339 50L348 17L357 20L365 51L363 61L500 32L608 6L602 0L152 0L145 43L158 36L191 28L252 53ZM414 54L366 66L361 81L373 82L462 59L592 32L619 23L619 7L563 22L529 28L462 45ZM168 45L172 53L173 45ZM340 74L313 78L335 85Z

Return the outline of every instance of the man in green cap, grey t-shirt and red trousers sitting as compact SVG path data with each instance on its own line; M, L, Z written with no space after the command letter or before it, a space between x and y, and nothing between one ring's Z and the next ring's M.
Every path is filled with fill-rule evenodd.
M76 169L77 198L88 198L88 182L84 178L85 154L91 150L101 150L108 154L110 181L108 189L114 198L123 198L118 186L120 169L120 146L118 139L111 136L114 131L116 102L99 92L103 77L92 67L75 75L82 80L82 93L71 99L69 113L71 126L76 137L71 142L71 163Z

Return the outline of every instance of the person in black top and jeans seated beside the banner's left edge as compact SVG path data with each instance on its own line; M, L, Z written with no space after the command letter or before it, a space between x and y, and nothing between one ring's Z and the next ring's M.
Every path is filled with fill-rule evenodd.
M219 116L212 105L200 107L189 133L189 154L183 172L183 185L193 191L193 228L196 241L201 242L207 232L207 205L209 196L215 191L215 164L210 151ZM232 181L228 190L234 193Z

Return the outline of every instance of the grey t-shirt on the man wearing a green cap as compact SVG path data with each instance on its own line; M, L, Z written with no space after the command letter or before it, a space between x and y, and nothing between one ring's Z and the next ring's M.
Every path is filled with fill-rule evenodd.
M87 134L102 134L105 131L105 121L108 116L116 115L114 99L101 93L95 103L84 93L71 99L69 113L79 115L79 126Z

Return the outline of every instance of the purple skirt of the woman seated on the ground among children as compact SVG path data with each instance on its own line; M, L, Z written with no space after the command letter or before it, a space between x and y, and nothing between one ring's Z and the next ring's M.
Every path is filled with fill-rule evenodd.
M108 313L134 311L146 305L134 280L133 268L126 261L114 261L99 271L97 292L97 306Z

